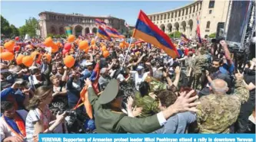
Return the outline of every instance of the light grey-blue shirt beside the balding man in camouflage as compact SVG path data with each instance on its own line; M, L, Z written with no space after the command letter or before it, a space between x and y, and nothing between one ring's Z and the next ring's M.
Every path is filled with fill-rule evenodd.
M191 111L181 112L168 118L166 124L154 131L155 134L185 134L187 125L196 121L196 115Z

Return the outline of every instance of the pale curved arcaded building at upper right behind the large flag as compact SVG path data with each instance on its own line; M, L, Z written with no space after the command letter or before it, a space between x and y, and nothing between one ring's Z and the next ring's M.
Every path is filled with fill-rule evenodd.
M229 1L201 0L182 8L163 11L148 17L166 34L180 31L187 37L196 37L197 18L201 37L216 33L218 24L225 22L228 15Z

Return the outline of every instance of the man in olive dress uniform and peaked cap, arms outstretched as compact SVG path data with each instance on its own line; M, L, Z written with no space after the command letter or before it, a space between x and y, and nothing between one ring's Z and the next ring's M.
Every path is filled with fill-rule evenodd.
M121 91L118 81L112 79L104 92L98 97L91 87L91 81L85 81L88 86L88 98L95 113L95 125L98 133L150 133L158 130L166 119L181 111L197 111L194 107L200 102L194 102L198 96L189 98L193 91L183 93L173 105L164 111L146 118L130 118L121 112Z

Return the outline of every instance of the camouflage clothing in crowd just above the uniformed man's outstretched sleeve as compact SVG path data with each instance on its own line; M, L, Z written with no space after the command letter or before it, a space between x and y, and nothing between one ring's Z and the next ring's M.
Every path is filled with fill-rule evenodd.
M143 98L139 93L135 95L135 106L143 108L139 118L145 118L147 116L155 115L158 113L158 100L151 98L149 95L145 95Z

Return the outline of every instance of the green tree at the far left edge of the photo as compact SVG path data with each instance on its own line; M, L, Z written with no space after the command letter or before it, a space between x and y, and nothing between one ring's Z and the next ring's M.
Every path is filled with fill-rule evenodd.
M18 29L13 25L9 24L9 22L2 17L1 15L1 33L5 35L5 37L15 37L19 35Z

